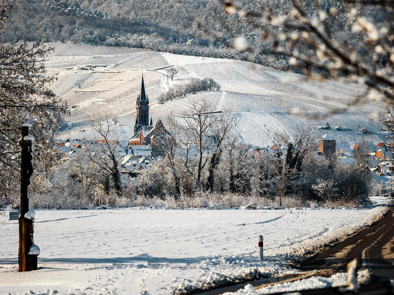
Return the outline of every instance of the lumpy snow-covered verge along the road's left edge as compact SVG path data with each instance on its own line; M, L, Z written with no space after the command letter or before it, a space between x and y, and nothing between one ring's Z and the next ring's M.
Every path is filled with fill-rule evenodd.
M241 261L243 262L244 260L247 260L243 263L244 265L246 264L247 267L235 267L226 271L223 271L223 268L220 267L205 267L207 270L205 272L201 272L199 277L195 278L194 281L190 279L182 279L180 282L174 283L174 293L197 293L198 291L221 288L229 286L230 284L239 284L269 276L296 273L297 269L293 269L292 267L298 267L319 252L327 249L327 247L354 236L361 230L383 218L389 209L389 205L377 206L371 209L377 212L372 212L358 225L351 225L342 229L327 231L321 236L312 238L311 240L305 240L287 247L281 247L280 252L272 252L272 250L265 251L264 255L266 255L266 257L268 256L269 259L265 258L262 262L258 262L256 260L256 249L249 249L248 251L245 251L247 253L245 253L243 260ZM226 264L228 261L228 258L225 256L215 257L214 259L207 257L207 260L203 260L201 264L204 265L204 262L209 264L212 260L219 260L223 264ZM233 259L236 258L237 257ZM240 257L239 259L242 258Z

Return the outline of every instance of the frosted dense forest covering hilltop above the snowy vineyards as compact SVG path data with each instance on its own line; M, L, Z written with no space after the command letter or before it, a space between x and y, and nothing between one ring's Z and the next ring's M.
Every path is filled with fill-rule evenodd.
M323 11L343 6L342 2L316 2ZM242 1L247 10L283 11L290 2L281 0ZM311 4L312 7L312 4ZM373 14L380 22L385 15L361 6L366 16ZM306 10L312 14L314 9ZM339 15L338 18L346 18ZM333 18L334 22L340 21ZM277 46L277 40L264 31L253 30L248 17L226 14L219 1L208 0L21 0L15 1L9 15L5 41L71 41L106 46L147 48L177 54L241 59L279 67L287 65L280 54L252 54L232 49L234 38L244 37L251 47ZM330 26L330 22L326 23ZM256 23L256 27L259 24ZM337 32L340 43L345 36ZM357 47L359 40L352 41ZM239 49L239 48L238 48ZM305 50L310 48L305 47Z

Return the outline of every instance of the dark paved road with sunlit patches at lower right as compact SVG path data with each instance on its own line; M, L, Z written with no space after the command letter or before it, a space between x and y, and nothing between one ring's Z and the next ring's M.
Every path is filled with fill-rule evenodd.
M346 271L346 264L362 258L362 267L370 267L375 275L394 279L394 210L359 234L321 252L301 269L334 268Z

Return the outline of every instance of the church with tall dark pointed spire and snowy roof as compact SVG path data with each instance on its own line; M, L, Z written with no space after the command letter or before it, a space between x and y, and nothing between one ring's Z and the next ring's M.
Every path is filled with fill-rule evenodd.
M137 96L137 116L134 125L134 135L128 140L129 146L152 146L154 126L151 118L149 122L149 98L145 93L144 76L142 76L141 90Z

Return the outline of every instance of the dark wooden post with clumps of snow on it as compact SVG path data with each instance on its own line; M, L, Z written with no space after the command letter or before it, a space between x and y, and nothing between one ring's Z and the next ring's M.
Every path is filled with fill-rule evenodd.
M29 135L30 122L22 125L22 147L20 160L20 216L19 216L19 271L37 269L39 247L33 241L34 210L30 209L27 188L33 174L32 142L34 137Z

